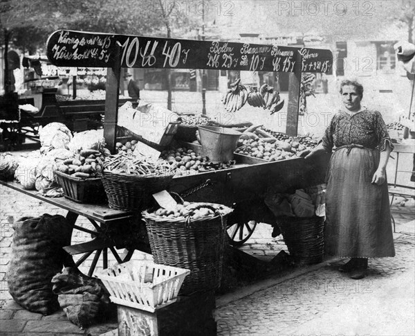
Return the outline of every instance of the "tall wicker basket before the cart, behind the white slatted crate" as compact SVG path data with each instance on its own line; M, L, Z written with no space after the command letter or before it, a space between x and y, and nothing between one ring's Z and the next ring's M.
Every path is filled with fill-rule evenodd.
M212 206L216 212L214 217L185 222L159 218L147 211L142 213L154 262L190 269L180 292L185 295L221 285L226 220L232 209L211 203L199 205Z

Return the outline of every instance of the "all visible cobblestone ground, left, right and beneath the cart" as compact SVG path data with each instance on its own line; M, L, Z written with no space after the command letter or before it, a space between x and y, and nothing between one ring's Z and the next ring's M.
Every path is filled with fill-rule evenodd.
M409 203L408 203L409 204ZM116 323L80 330L62 310L53 315L27 312L10 300L4 276L10 261L13 220L24 215L65 211L0 186L0 335L101 335ZM340 261L323 263L299 275L267 285L253 283L227 294L216 309L218 335L415 335L414 330L414 219L413 206L394 206L396 258L371 260L369 276L353 281L336 269ZM86 220L77 224L86 225ZM243 251L269 261L286 249L281 237L271 238L272 227L259 224ZM400 233L403 232L403 233ZM73 242L91 237L73 236ZM133 258L143 258L134 254ZM111 260L109 260L111 263ZM91 263L87 260L86 271ZM295 270L298 272L298 269ZM412 299L411 299L412 298Z

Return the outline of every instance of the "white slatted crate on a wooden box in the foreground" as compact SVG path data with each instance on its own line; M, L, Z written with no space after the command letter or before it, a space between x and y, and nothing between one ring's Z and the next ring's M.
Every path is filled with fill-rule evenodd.
M188 274L189 269L131 260L104 269L97 276L113 303L154 312L176 301Z

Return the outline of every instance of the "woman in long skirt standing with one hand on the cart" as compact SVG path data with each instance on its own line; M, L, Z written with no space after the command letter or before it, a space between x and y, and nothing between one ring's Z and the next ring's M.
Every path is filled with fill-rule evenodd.
M395 256L386 166L394 145L382 116L360 105L363 87L352 80L340 84L344 108L333 119L306 159L332 152L327 172L326 254L349 257L340 272L364 278L367 258Z

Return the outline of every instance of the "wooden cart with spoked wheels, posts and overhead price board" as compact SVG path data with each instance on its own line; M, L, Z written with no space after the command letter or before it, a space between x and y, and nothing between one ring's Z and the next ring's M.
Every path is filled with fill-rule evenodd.
M287 72L290 82L286 134L296 136L302 71L328 72L333 64L331 52L321 49L136 37L71 30L58 30L50 35L47 49L48 59L57 66L108 68L104 137L112 151L115 150L118 141L116 134L121 67ZM194 202L208 200L232 206L235 210L229 218L229 226L233 227L230 238L234 245L239 245L250 237L257 222L273 224L273 214L264 204L264 195L269 187L283 193L296 188L322 184L328 160L327 155L307 161L303 158L294 158L255 165L237 165L229 169L174 178L171 190L180 193L185 200ZM13 184L6 185L19 190ZM38 197L34 193L25 193ZM89 218L93 227L97 229L97 223L94 222L97 218L91 216L89 212L93 206L78 204L69 206L68 204L71 203L73 202L64 200L54 201L53 204L69 211L68 218L71 218L74 229L82 229L75 226L77 215ZM113 213L111 209L107 211ZM129 220L131 214L122 214L118 211L114 218ZM111 227L113 221L108 222L101 218L101 223L105 227L107 224ZM95 240L68 247L67 251L71 254L84 253L81 261L96 251L93 267L101 251L105 251L104 267L106 267L106 252L116 237L104 234L100 238L102 239L98 242ZM128 260L131 256L131 249L142 249L139 244L124 247L129 248L130 252L124 260ZM92 272L93 269L90 270L90 274Z

